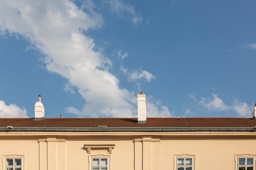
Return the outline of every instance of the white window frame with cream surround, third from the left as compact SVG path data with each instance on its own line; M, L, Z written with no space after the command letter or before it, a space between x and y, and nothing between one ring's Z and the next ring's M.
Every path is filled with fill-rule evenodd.
M192 165L178 165L178 158L184 159L184 162L186 161L186 158L192 159ZM174 170L178 170L178 168L184 167L184 170L186 170L187 167L192 167L192 170L195 170L195 155L191 154L181 154L181 155L174 155L173 156L174 161Z

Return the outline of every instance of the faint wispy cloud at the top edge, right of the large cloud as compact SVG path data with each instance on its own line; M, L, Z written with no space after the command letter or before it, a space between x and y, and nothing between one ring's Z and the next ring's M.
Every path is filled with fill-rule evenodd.
M135 9L131 4L125 4L121 0L110 0L107 2L110 4L111 11L119 15L119 17L125 18L125 14L131 15L131 21L133 26L142 22L142 17L135 12Z

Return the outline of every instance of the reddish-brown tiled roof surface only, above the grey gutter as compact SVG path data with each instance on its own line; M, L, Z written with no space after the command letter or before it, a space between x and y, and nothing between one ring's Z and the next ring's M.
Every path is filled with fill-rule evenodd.
M0 127L255 127L254 118L225 117L168 117L147 118L146 124L137 124L137 118L0 118Z

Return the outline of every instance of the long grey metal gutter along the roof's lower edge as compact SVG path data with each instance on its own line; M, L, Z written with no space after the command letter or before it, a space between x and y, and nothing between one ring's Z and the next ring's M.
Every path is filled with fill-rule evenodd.
M11 126L12 127L12 126ZM256 127L0 127L0 132L256 132Z

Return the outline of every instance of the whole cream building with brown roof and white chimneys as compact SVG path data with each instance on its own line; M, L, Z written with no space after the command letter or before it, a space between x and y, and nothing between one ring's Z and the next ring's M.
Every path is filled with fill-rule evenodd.
M256 119L138 118L0 119L1 170L255 170Z

